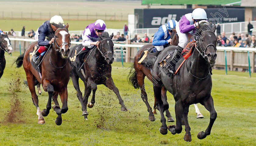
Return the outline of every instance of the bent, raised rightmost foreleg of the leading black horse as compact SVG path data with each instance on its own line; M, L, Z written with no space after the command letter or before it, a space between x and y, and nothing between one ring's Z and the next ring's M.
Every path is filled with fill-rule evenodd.
M204 105L204 107L210 112L210 123L207 129L205 130L205 132L201 131L197 134L197 138L204 139L207 135L211 134L212 125L217 118L217 113L214 109L213 99L211 95L208 97L207 100L204 100L203 102L201 102L201 104Z

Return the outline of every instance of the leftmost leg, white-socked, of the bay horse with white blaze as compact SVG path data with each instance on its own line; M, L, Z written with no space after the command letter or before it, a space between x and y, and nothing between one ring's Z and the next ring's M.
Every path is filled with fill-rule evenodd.
M36 90L35 90L35 77L34 75L31 73L31 71L27 70L26 68L24 68L26 75L27 75L27 84L28 84L28 88L30 90L31 96L32 96L32 101L34 103L34 105L37 108L37 116L38 116L38 124L44 124L45 120L41 114L41 110L38 106L38 96L36 94Z

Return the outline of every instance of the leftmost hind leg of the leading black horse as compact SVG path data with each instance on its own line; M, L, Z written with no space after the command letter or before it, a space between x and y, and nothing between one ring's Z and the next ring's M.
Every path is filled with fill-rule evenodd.
M159 128L159 131L161 134L165 135L168 133L167 131L167 125L166 125L166 119L165 119L165 115L164 115L164 105L163 105L163 101L162 101L162 97L161 97L161 86L154 86L154 93L155 93L155 98L156 98L156 103L157 103L157 109L160 112L161 115L161 123L162 126Z

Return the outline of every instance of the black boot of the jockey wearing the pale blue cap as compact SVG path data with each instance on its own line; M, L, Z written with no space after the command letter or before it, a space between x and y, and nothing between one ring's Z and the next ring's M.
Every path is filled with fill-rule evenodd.
M182 58L181 52L182 52L183 48L180 46L177 46L176 50L174 51L174 54L172 56L171 59L167 59L166 62L169 63L169 65L167 66L167 70L169 73L175 74L176 70L175 70L175 65L177 64L177 62Z

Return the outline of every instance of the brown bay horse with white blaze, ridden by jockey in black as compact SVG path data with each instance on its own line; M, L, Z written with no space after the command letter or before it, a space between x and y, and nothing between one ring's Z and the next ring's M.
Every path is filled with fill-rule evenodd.
M53 99L55 105L52 106L52 108L58 114L55 123L57 125L61 125L61 114L66 113L68 110L67 85L69 82L70 68L69 64L67 63L67 59L70 51L70 34L68 33L68 24L66 26L53 26L51 24L51 27L55 33L52 33L52 36L49 37L49 39L51 40L51 38L54 37L55 41L53 45L51 45L52 47L49 48L49 52L45 53L44 59L40 65L42 73L41 78L38 71L35 70L30 63L33 53L35 52L34 47L37 45L37 41L31 43L25 53L18 57L16 64L17 67L20 67L23 63L23 68L27 75L27 84L32 95L32 101L37 108L38 123L45 123L43 116L47 116L49 114ZM49 95L46 109L43 109L42 111L38 106L38 97L35 92L35 79L42 84L44 91L48 92ZM62 109L59 107L57 98L52 98L52 96L58 96L58 94L60 95L60 99L62 101Z

